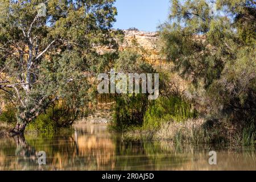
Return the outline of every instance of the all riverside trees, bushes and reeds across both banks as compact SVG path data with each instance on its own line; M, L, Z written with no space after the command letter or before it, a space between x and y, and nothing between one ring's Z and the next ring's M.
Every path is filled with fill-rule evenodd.
M149 64L135 39L132 47L118 49L123 34L112 30L117 14L112 0L49 1L43 18L28 1L10 7L0 2L2 130L52 133L71 126L93 113L89 102L97 104L93 76L115 68L160 75L155 101L147 94L106 95L114 103L110 125L123 140L254 146L254 1L171 1L170 20L158 30L164 67ZM85 16L88 7L94 8Z

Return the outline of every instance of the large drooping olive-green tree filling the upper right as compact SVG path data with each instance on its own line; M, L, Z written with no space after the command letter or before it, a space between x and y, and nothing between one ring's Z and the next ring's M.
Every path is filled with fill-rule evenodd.
M218 110L237 121L255 118L254 0L173 0L170 22L160 26L160 35L176 71L203 84Z

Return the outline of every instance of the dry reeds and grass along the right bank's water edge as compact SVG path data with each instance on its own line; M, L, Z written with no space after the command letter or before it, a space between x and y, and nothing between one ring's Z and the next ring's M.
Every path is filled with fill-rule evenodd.
M254 146L256 131L254 122L247 127L237 127L222 121L187 119L184 122L164 122L158 128L131 127L122 134L123 140L171 140L181 143L214 143Z

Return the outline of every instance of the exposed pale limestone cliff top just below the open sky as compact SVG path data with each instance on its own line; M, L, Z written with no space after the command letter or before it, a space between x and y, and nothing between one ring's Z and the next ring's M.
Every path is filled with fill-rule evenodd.
M160 55L158 33L128 30L124 30L123 32L125 37L123 43L119 45L120 50L134 47L134 42L136 42L144 50L143 55L148 63L157 65L166 62L164 56Z

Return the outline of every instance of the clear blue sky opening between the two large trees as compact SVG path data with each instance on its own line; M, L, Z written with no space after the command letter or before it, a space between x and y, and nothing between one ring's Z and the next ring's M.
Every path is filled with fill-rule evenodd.
M156 31L156 27L168 18L170 0L117 0L115 7L118 15L114 28Z

